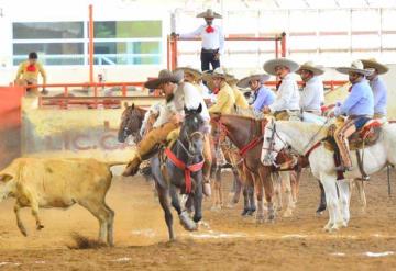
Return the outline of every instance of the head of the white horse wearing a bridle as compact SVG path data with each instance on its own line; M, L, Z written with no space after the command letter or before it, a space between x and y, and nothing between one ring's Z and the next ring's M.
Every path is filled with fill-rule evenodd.
M265 166L275 165L276 157L284 147L285 140L276 132L275 120L271 118L264 128L263 163Z

